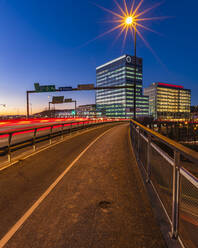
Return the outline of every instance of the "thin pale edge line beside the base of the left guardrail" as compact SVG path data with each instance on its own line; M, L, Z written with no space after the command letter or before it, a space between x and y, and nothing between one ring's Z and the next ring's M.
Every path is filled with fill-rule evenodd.
M107 125L110 125L110 124L111 124L111 123L109 123L109 124L107 124ZM0 171L5 170L5 169L7 169L7 168L9 168L9 167L11 167L11 166L17 164L18 162L20 162L20 159L25 160L25 159L27 159L27 158L29 158L29 157L32 157L32 156L34 156L34 155L36 155L36 154L38 154L38 153L40 153L40 152L45 151L45 150L47 150L47 149L49 149L49 148L51 148L51 147L53 147L53 146L56 146L56 145L58 145L58 144L60 144L60 143L62 143L62 142L65 142L66 140L72 139L72 138L74 138L74 137L76 137L76 136L79 136L79 135L81 135L81 134L84 134L84 133L87 133L87 132L90 132L90 131L94 131L94 130L99 129L99 128L102 128L102 127L104 127L103 124L102 124L101 126L97 126L97 127L90 127L90 128L88 128L88 129L84 129L84 130L82 129L82 132L74 132L74 133L72 133L72 134L73 134L72 136L66 135L65 138L64 138L63 140L56 141L56 142L54 142L54 143L51 144L51 145L47 145L47 146L45 146L45 147L43 147L43 148L41 148L41 149L39 149L39 150L37 150L37 151L35 151L35 152L32 152L31 154L28 154L28 155L25 156L25 154L23 153L25 157L23 157L23 154L19 155L19 156L16 158L16 159L17 159L16 161L13 161L13 162L11 162L11 163L9 163L9 164L6 164L6 165L3 166L3 167L0 167ZM70 134L71 134L71 133L70 133ZM7 163L7 162L6 162L6 163Z

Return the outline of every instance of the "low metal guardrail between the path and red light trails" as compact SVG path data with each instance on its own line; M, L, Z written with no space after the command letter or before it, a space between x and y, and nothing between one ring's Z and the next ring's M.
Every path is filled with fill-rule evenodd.
M2 154L7 154L8 162L12 160L12 151L26 147L32 146L33 151L36 151L36 144L45 140L49 140L49 144L52 144L52 139L54 137L60 136L61 139L64 138L64 134L69 134L73 131L88 128L92 125L100 125L104 123L112 123L113 120L83 120L83 121L73 121L73 122L63 122L55 123L49 125L39 125L23 129L2 131L0 132L0 139L4 139L4 146L0 147ZM15 142L13 137L17 135ZM29 136L29 137L28 137Z

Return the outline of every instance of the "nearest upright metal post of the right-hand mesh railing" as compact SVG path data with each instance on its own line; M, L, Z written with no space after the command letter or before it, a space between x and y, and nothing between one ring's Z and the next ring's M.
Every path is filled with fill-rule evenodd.
M180 153L174 151L173 166L173 202L172 202L172 238L178 238L179 228L179 198L180 198Z

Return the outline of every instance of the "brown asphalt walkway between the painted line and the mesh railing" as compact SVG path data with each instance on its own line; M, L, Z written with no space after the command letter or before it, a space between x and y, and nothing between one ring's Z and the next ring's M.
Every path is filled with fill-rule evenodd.
M6 248L162 248L129 141L109 130L75 163Z

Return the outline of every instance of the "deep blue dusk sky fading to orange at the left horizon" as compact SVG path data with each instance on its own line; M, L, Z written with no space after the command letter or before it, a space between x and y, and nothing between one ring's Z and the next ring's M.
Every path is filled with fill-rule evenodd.
M144 0L142 10L158 2ZM133 54L130 36L124 49L123 36L114 42L119 31L88 43L114 27L105 22L113 16L94 3L119 12L113 0L0 0L0 104L7 105L0 106L0 114L25 113L25 92L34 89L34 82L57 87L95 83L97 66ZM161 63L137 40L144 87L152 82L183 85L192 90L192 105L198 104L197 9L197 0L166 0L145 15L171 16L145 22L161 35L141 30ZM49 95L54 94L31 97L33 112L47 107ZM73 97L78 104L95 101L94 92L56 95Z

